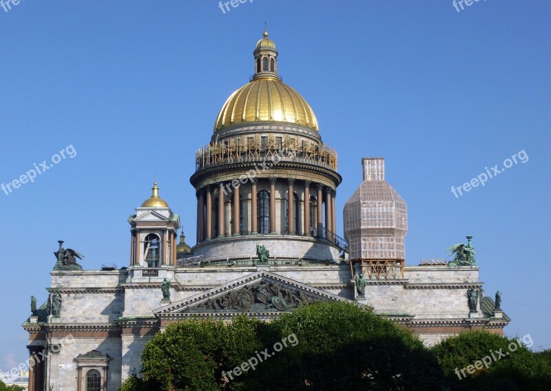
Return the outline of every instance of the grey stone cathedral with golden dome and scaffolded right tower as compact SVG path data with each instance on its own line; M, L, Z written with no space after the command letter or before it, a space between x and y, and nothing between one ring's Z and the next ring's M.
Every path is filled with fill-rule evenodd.
M269 320L336 300L370 306L427 345L503 332L510 319L499 296L484 297L471 237L450 249L453 262L406 262L406 202L386 182L384 158L362 158L362 172L346 174L359 186L337 234L337 152L282 82L267 32L253 55L249 83L227 98L196 151L195 246L183 233L178 243L180 217L157 182L128 218L123 268L83 270L60 240L48 301L23 323L29 390L116 391L140 370L147 341L190 317Z

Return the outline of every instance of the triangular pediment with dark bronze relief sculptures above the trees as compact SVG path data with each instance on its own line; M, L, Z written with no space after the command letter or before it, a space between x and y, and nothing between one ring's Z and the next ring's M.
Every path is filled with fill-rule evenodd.
M273 317L315 302L333 300L353 302L270 271L258 271L158 308L154 314L171 319L238 313Z

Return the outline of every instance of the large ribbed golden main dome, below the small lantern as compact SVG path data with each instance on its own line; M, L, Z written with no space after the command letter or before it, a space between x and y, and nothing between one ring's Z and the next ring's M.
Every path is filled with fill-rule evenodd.
M318 131L318 120L310 105L275 74L255 78L233 92L218 113L214 131L264 121L292 123Z

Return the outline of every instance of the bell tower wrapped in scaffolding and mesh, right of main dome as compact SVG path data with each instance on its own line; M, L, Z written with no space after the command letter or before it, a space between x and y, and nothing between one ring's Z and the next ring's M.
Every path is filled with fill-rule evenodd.
M403 276L408 231L406 202L384 180L384 158L362 158L364 181L344 204L349 259L365 277Z

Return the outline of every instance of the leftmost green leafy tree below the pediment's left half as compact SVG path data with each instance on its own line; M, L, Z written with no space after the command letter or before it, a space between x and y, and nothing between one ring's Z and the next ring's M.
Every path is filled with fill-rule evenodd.
M227 372L262 347L259 325L244 315L230 324L197 319L171 324L145 345L141 374L121 390L243 390L249 373L232 380Z

